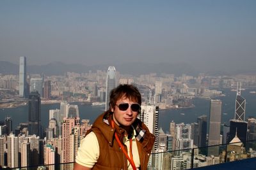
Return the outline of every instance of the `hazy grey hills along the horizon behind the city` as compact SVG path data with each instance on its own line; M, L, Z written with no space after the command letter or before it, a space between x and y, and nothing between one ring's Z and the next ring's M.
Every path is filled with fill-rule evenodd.
M36 66L27 66L27 73L29 74L41 74L45 75L63 75L66 72L75 73L88 73L90 70L95 72L97 70L107 71L109 65L97 65L97 66L84 66L83 64L65 64L63 62L51 62L49 64ZM116 71L121 74L148 74L148 73L167 73L175 74L180 76L181 74L188 74L191 76L197 76L198 73L207 73L211 75L228 75L238 73L250 73L255 74L256 69L244 69L244 70L233 70L232 72L227 71L202 71L195 68L185 62L180 63L142 63L142 62L129 62L124 64L115 65ZM0 61L0 73L2 74L19 74L19 65L12 64L11 62Z

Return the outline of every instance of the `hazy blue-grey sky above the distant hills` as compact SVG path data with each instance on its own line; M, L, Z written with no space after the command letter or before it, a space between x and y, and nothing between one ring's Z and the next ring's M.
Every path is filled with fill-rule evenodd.
M0 60L254 67L256 1L0 1Z

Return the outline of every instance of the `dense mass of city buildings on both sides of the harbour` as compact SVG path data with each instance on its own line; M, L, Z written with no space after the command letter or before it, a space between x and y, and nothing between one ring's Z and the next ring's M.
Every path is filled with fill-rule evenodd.
M240 87L237 82L241 82ZM107 110L109 92L118 83L136 84L143 101L138 118L157 137L148 168L188 169L191 165L209 166L256 156L255 141L246 142L256 139L256 120L245 120L246 100L241 96L241 85L255 87L256 76L131 76L118 73L113 66L96 73L45 76L27 74L26 57L20 57L19 75L0 74L1 107L28 103L28 122L20 122L13 129L11 117L0 121L0 166L72 169L70 162L74 162L80 141L92 125L90 120L80 120L78 106L70 103L104 104ZM224 94L214 88L237 91L234 119L223 125L222 132L222 103L211 98ZM193 97L211 99L209 118L201 115L191 124L170 122L170 131L166 133L159 129L159 110L193 107ZM42 103L60 103L60 110L49 110L46 129L41 125ZM227 145L227 149L223 150L221 144ZM38 167L44 164L59 166Z

